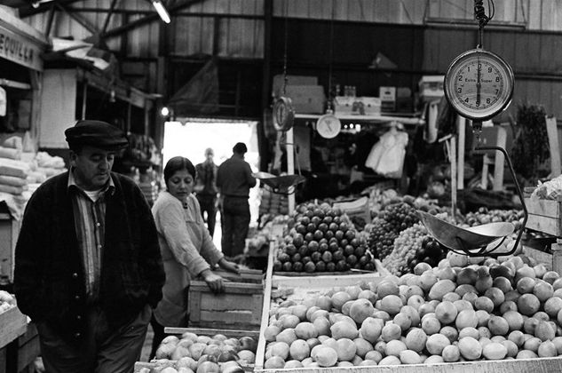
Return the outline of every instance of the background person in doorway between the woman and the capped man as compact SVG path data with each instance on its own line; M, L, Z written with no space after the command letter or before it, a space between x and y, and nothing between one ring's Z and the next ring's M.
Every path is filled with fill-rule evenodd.
M213 149L205 149L205 162L195 166L197 179L194 187L195 196L201 207L203 219L207 212L207 228L212 237L215 234L215 222L217 219L217 165L213 162Z

